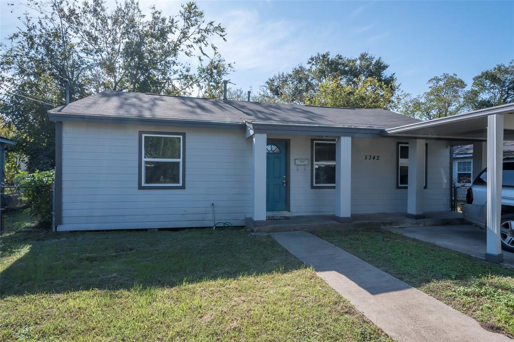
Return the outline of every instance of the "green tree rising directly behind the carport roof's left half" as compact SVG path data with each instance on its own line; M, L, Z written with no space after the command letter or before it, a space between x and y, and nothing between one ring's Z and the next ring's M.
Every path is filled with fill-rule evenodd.
M456 74L444 73L428 80L429 90L420 96L402 94L396 110L413 118L432 120L463 111L466 83Z

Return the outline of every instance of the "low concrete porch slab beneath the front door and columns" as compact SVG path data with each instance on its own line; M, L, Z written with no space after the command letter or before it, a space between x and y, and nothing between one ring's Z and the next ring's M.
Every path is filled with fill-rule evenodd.
M426 212L424 219L412 219L406 213L354 214L351 222L339 222L333 215L291 216L288 220L254 221L246 219L252 232L273 233L288 231L320 231L342 228L391 228L427 225L463 224L461 213Z

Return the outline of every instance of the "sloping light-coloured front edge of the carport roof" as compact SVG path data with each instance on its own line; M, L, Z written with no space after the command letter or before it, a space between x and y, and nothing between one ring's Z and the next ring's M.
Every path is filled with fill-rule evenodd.
M433 119L433 120L429 120L429 121L416 122L416 123L403 125L403 126L399 126L399 127L388 128L388 129L386 129L386 133L387 134L396 134L396 133L409 131L411 129L433 127L433 126L443 125L443 124L451 123L451 122L458 122L458 121L463 121L463 120L485 117L485 116L489 116L489 115L493 115L493 114L504 114L504 113L509 113L509 112L514 112L514 103L508 103L508 104L504 104L501 106L484 108L484 109L470 111L470 112L462 113L462 114L456 114L456 115L453 115L451 117L446 117L446 118Z

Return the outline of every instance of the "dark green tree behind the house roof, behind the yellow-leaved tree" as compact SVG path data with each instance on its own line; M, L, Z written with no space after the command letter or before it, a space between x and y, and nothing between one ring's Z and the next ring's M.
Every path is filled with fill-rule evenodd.
M339 80L341 86L357 87L368 78L396 89L394 73L387 73L389 65L381 58L363 52L357 58L347 58L329 52L309 58L306 65L299 65L290 72L274 75L266 81L267 92L277 102L303 104L320 89L324 82Z

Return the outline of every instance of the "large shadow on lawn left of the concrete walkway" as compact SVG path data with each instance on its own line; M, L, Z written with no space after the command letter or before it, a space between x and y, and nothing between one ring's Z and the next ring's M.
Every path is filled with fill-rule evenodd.
M270 237L242 229L49 233L1 238L0 296L61 293L287 272L303 267Z

